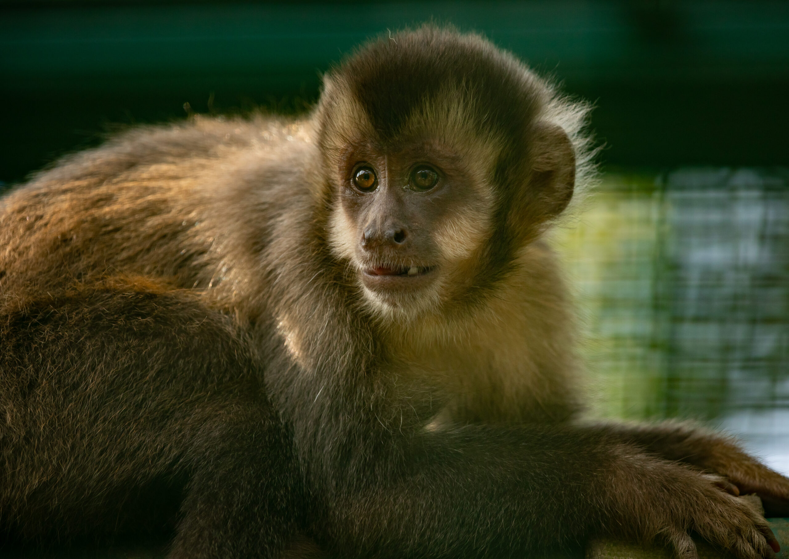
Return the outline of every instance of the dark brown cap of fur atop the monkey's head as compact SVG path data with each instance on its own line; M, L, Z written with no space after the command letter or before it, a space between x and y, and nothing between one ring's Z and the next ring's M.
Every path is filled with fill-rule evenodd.
M480 35L433 25L383 35L329 77L350 84L384 142L396 138L426 100L453 89L469 100L469 124L521 143L522 131L550 98L544 84L511 54Z

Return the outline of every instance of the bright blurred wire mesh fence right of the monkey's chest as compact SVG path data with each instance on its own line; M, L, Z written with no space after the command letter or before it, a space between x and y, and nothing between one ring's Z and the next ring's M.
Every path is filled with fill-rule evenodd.
M591 414L701 419L789 471L789 170L610 174L555 244Z

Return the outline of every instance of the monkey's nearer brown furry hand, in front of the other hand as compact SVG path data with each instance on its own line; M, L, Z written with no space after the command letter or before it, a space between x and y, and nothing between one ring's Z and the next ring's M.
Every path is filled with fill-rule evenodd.
M662 541L681 559L695 559L691 532L740 559L775 557L780 546L746 501L721 489L724 479L681 464L623 450L608 495L612 535ZM618 470L618 471L617 471Z

